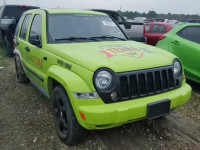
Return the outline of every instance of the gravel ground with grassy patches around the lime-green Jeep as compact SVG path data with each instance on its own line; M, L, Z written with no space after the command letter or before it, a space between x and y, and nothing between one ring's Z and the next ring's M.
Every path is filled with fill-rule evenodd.
M200 85L189 82L191 100L169 116L89 131L82 143L68 147L54 131L50 102L32 85L17 83L13 58L0 59L0 150L191 150L200 143Z

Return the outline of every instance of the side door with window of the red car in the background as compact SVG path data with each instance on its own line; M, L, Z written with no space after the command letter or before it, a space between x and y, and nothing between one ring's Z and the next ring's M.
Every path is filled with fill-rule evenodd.
M153 25L148 33L145 34L147 37L147 43L155 46L159 38L167 32L164 25Z

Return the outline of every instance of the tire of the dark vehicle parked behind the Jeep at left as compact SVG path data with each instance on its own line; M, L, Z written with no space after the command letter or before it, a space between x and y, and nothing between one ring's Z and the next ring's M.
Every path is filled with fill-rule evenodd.
M13 53L14 48L12 46L12 43L10 43L8 41L6 36L3 37L3 45L4 45L3 48L4 48L6 56L13 57L14 56L14 53Z

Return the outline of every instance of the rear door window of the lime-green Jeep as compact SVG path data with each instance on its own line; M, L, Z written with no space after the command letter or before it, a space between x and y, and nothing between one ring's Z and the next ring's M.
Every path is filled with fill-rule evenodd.
M24 23L22 25L20 36L19 36L22 39L26 39L26 34L27 34L28 26L29 26L29 23L31 20L31 16L32 16L31 14L28 14L28 15L26 15L26 17L24 19Z

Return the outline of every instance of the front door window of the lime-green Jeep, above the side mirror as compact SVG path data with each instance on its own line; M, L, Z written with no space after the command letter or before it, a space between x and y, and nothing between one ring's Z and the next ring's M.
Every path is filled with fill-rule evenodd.
M42 36L42 18L41 18L40 15L35 15L35 17L33 19L29 39L30 39L31 36L34 36L34 35L39 36L39 38L41 39L41 36Z

